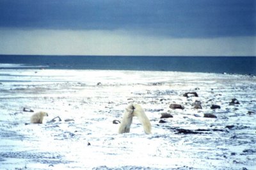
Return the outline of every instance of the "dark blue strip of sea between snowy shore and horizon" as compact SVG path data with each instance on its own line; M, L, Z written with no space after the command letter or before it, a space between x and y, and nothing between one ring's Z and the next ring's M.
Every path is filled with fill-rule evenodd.
M0 55L1 64L22 64L33 68L84 70L152 70L256 74L256 57L179 56L13 56ZM10 68L10 67L9 67Z

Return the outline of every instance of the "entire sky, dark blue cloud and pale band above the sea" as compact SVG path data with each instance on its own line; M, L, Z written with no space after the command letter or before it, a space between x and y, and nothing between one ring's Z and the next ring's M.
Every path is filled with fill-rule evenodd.
M0 54L256 56L255 0L0 0Z

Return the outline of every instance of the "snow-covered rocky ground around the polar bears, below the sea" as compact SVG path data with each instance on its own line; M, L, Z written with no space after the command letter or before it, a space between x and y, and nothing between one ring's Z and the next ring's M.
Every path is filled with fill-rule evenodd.
M248 75L0 70L0 169L255 169L255 91ZM137 118L129 134L117 134L113 120L130 102L145 109L152 134ZM33 112L23 107L49 116L25 125ZM159 123L163 112L173 118Z

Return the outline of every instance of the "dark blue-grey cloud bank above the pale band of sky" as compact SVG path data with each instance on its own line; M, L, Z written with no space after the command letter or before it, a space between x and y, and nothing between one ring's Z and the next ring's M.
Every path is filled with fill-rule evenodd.
M254 36L253 0L0 1L0 27L126 29L176 37Z

